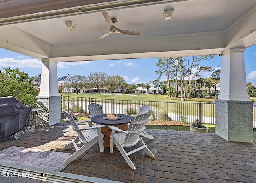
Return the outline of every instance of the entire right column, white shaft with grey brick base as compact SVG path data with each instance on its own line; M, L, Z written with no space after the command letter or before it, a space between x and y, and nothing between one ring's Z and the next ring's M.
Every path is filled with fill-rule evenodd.
M252 105L247 95L244 48L222 55L215 133L227 141L253 142Z

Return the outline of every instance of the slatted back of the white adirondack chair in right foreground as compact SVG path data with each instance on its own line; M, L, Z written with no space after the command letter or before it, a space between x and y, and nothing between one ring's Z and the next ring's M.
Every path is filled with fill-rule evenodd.
M149 121L150 114L140 114L132 118L128 127L128 134L126 134L124 145L133 145L138 142L140 132L144 131L145 124Z

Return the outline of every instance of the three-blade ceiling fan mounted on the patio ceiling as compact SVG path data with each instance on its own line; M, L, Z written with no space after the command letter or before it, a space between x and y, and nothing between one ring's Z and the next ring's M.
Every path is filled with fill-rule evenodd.
M106 21L108 22L108 25L110 26L110 31L106 34L103 34L102 36L98 37L97 40L105 38L106 36L108 36L109 34L112 33L123 33L123 34L129 34L129 35L140 35L140 32L134 32L131 30L121 30L115 27L115 24L118 22L118 18L116 17L111 17L108 15L107 12L102 12L104 18L106 19Z

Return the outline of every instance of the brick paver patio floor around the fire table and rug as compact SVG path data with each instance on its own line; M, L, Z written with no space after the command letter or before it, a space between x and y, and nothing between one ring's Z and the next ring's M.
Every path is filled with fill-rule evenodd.
M95 145L63 172L120 182L248 182L256 183L256 144L228 142L215 133L146 129L155 139L145 139L155 159L144 151L130 155L131 169L119 151L100 153ZM35 131L34 128L0 141L0 150L11 146L61 152L76 134L69 123L58 123ZM132 147L130 148L132 149ZM74 153L74 149L63 151Z

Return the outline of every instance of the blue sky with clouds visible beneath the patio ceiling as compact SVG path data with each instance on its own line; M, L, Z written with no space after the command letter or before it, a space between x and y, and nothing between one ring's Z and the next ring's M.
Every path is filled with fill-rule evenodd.
M246 48L244 52L246 81L256 83L256 45ZM123 76L127 83L146 83L156 80L158 58L144 59L123 59L123 60L99 60L99 61L82 61L82 62L61 62L57 64L58 77L67 74L80 74L88 76L90 72L105 72L110 75ZM200 66L211 66L219 68L221 57L214 56L212 60L202 60ZM21 71L28 73L29 76L38 76L41 74L42 62L38 59L31 58L16 52L0 48L0 69L19 68ZM210 72L202 73L203 77L210 76ZM166 78L162 77L161 80Z

